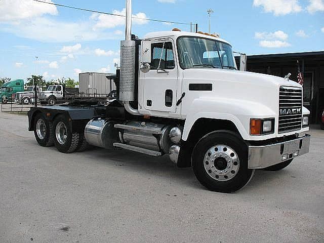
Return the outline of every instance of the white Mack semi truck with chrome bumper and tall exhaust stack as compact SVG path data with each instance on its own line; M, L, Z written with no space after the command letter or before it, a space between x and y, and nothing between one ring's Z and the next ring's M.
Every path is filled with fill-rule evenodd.
M31 108L29 131L39 145L63 153L90 144L168 154L219 192L236 191L256 169L280 170L309 151L299 84L237 70L232 46L213 35L175 29L139 39L131 35L126 2L118 97Z

